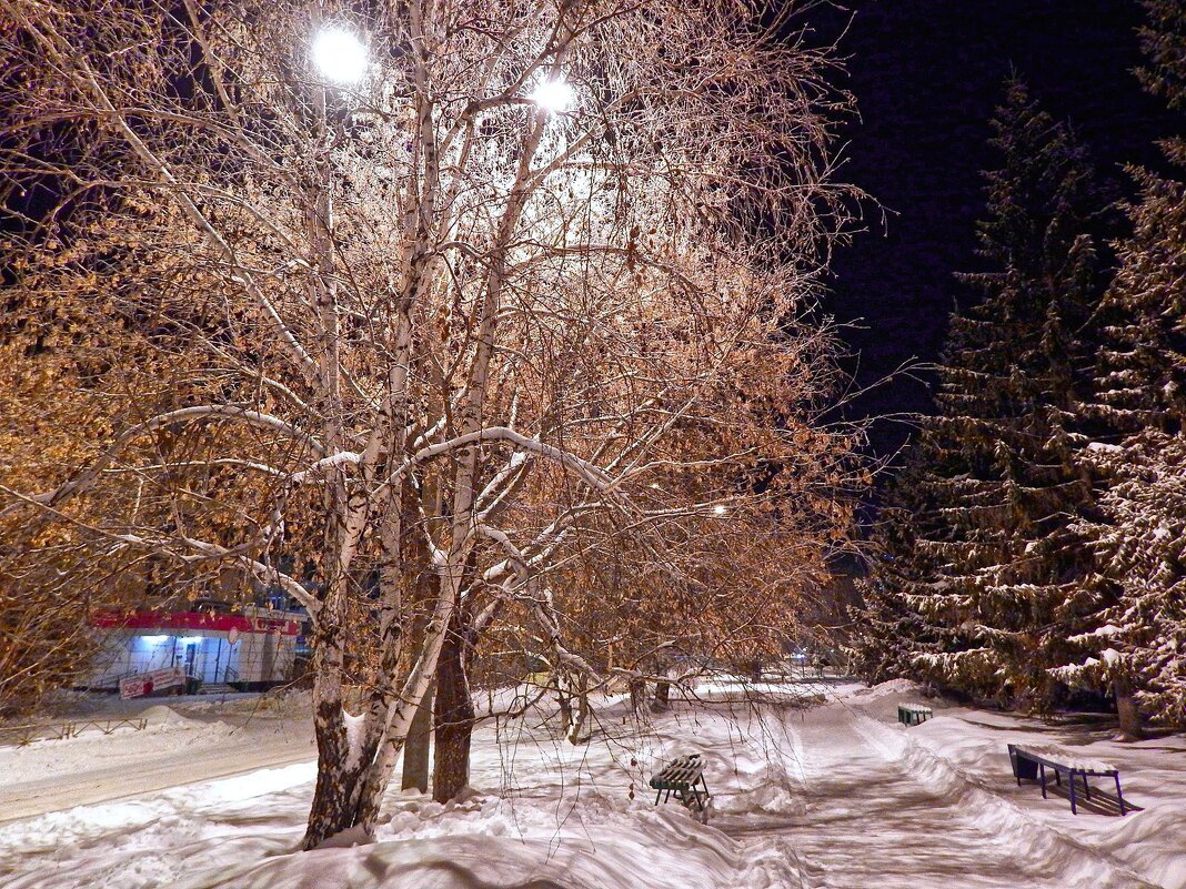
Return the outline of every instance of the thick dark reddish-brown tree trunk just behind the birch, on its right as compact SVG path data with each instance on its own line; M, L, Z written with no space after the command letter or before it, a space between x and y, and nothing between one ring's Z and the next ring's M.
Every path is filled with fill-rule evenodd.
M448 802L470 782L470 738L473 697L470 695L470 613L453 612L440 659L436 661L436 753L433 759L433 799Z

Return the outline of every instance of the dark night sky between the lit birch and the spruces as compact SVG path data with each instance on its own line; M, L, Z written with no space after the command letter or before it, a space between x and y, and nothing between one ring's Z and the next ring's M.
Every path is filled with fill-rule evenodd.
M861 353L862 383L901 362L933 360L954 300L968 293L952 273L974 267L980 171L994 161L988 120L1010 68L1059 119L1070 119L1103 174L1129 190L1120 165L1158 164L1155 137L1169 133L1160 103L1131 69L1141 62L1136 0L853 0L808 21L840 44L861 122L850 126L844 177L891 211L857 235L834 264L827 309ZM927 410L927 390L901 379L862 399L873 414ZM886 453L906 430L881 424Z

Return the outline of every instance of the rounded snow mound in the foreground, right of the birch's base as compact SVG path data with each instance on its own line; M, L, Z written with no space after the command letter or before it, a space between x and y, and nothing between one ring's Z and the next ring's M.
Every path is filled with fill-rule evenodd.
M413 813L401 813L413 814ZM433 836L398 818L410 838L352 849L323 849L222 870L184 883L186 889L460 889L563 887L565 889L796 889L803 885L792 850L785 858L752 857L745 845L703 829L672 806L642 802L625 811L586 805L557 825L550 808L511 807L485 800L451 812L451 832ZM441 820L429 808L429 820ZM413 814L413 818L416 818ZM457 821L467 820L461 830ZM471 832L472 831L472 832ZM788 882L788 878L793 882Z

